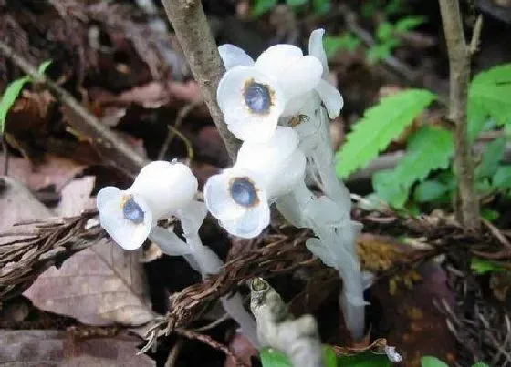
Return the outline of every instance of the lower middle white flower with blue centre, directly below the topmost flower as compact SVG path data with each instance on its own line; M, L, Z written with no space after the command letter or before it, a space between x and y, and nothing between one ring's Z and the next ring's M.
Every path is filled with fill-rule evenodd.
M303 180L306 159L297 145L297 133L292 128L277 127L266 143L245 142L235 167L208 179L204 199L224 229L238 237L253 238L267 227L269 203Z

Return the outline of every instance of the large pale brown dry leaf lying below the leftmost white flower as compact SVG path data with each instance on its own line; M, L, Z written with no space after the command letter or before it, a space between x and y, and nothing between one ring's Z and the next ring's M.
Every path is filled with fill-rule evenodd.
M141 325L153 318L139 254L110 240L45 271L24 294L36 307L92 325Z

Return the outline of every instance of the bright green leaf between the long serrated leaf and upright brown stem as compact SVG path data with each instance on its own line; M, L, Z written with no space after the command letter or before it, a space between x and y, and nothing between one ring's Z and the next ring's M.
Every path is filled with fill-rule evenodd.
M424 126L408 140L406 155L395 168L395 177L404 186L422 181L433 169L449 167L454 154L454 138L450 131Z

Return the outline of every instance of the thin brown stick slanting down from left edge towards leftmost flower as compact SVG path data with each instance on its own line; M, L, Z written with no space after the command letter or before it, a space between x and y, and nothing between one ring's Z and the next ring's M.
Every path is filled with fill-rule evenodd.
M144 158L135 152L124 140L117 137L110 131L109 127L102 125L98 118L92 115L83 107L77 99L72 97L66 90L58 87L57 84L49 80L46 76L39 74L36 67L30 65L22 56L7 46L0 40L0 54L4 54L16 66L22 69L27 75L31 76L36 83L42 83L47 86L50 92L57 97L64 105L69 108L73 114L74 127L82 134L91 137L99 147L104 148L111 158L111 163L120 165L129 173L134 174L145 164Z

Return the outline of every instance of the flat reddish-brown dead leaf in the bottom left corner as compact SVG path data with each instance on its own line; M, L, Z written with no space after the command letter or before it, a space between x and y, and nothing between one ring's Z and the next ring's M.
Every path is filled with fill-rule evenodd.
M78 338L70 331L0 331L0 364L7 366L125 366L156 363L137 355L141 341L127 334Z

